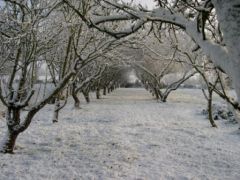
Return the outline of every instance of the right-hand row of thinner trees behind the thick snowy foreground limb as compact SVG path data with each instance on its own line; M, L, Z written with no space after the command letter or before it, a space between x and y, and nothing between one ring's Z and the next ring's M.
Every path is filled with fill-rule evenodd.
M134 62L132 66L144 87L157 100L166 102L171 92L184 87L189 80L186 84L202 88L212 127L217 127L212 112L213 93L226 100L230 111L239 111L238 103L227 93L230 88L227 75L201 51L192 52L193 43L181 31L163 31L161 41L156 34L149 34L148 39L138 41L138 45L143 50L143 60ZM195 82L191 82L194 79Z

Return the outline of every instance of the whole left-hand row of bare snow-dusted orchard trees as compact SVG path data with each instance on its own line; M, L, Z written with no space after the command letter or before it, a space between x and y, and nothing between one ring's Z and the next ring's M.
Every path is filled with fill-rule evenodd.
M85 16L92 1L73 3ZM0 41L0 99L7 122L0 144L3 153L13 152L18 135L50 101L54 100L53 122L57 122L68 96L79 107L79 92L89 102L91 90L99 98L100 89L104 94L107 88L113 89L120 70L112 53L124 43L89 29L58 0L1 2ZM46 73L45 88L51 81L47 93L41 93L36 84L38 71Z

